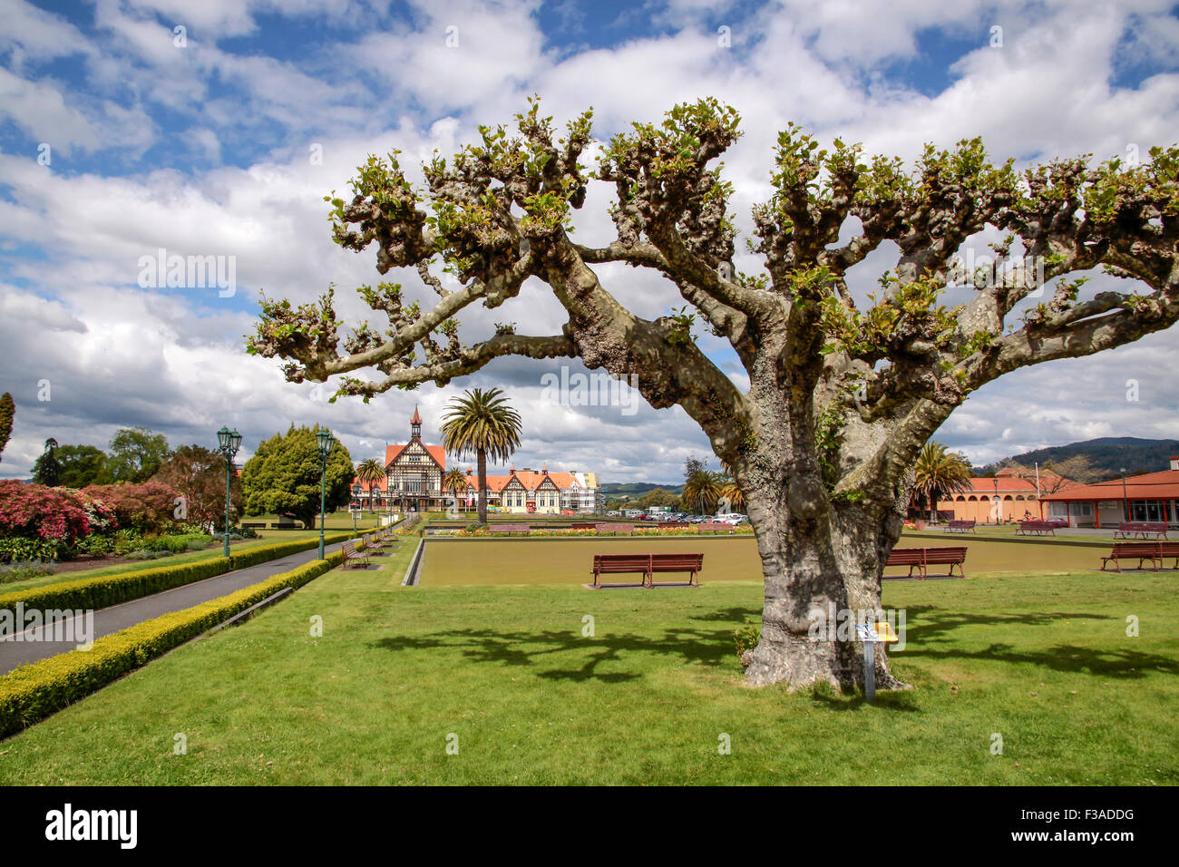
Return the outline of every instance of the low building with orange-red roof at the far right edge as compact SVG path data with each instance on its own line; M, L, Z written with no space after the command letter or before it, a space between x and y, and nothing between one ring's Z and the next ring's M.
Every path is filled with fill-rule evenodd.
M1045 494L1048 517L1076 527L1117 527L1121 521L1166 521L1179 525L1179 457L1157 473L1072 485Z

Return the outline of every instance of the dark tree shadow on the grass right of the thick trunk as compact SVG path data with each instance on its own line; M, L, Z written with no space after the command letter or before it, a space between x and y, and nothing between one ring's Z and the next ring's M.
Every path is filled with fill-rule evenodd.
M1108 615L1062 611L964 615L929 607L909 607L907 611L915 622L907 625L905 649L890 655L894 662L905 662L909 658L930 661L990 659L1101 677L1139 678L1144 677L1147 671L1179 675L1179 661L1158 653L1145 653L1124 648L1054 644L1046 650L1026 650L1015 644L993 642L979 650L967 650L949 644L954 630L961 626L1048 626L1060 625L1062 620L1118 620L1117 617ZM1093 633L1091 632L1091 635ZM1117 637L1114 631L1111 631L1108 636L1096 636L1102 643L1112 642Z

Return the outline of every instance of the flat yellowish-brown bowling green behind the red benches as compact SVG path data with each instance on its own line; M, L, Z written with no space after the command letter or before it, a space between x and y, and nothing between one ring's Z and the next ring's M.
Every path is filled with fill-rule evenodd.
M1061 544L1054 539L997 541L976 538L904 536L898 547L966 545L968 577L987 574L1062 573L1096 569L1102 549ZM1105 549L1107 551L1108 549ZM597 539L455 539L430 540L422 563L424 585L569 584L592 582L595 553L704 554L699 579L707 582L762 580L762 560L752 537L611 538ZM937 567L936 571L944 571ZM955 570L956 571L956 570ZM885 576L908 574L889 569ZM672 579L668 576L668 579ZM625 580L615 577L612 580Z

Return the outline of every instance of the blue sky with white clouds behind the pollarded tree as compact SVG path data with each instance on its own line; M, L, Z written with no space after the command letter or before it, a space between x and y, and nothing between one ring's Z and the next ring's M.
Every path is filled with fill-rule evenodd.
M322 197L345 189L367 153L400 147L414 164L453 152L533 93L559 120L593 105L601 139L676 101L731 103L745 130L725 159L742 228L790 120L907 159L975 134L1021 163L1179 140L1179 17L1147 0L0 0L0 15L9 478L27 475L47 436L105 446L129 425L211 445L229 423L249 452L291 422L321 422L362 459L403 439L415 403L430 436L450 396L500 385L526 419L518 465L677 480L685 457L709 452L681 410L554 405L541 385L553 364L500 360L443 389L329 405L330 389L286 383L244 354L259 289L305 301L335 281L343 311L362 313L350 289L377 278L373 258L331 244ZM608 239L608 189L591 193L581 237ZM140 258L160 248L232 262L235 291L141 287ZM893 264L885 254L854 285L872 285ZM683 303L657 278L604 278L643 316ZM508 309L473 311L465 336ZM540 288L509 315L523 333L561 322ZM703 340L742 382L731 352ZM1089 436L1174 436L1177 343L1160 334L1020 372L974 395L938 439L984 462Z

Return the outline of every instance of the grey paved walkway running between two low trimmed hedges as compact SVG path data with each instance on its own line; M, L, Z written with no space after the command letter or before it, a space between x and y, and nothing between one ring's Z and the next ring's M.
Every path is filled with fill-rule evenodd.
M328 545L327 552L331 553L334 551L338 551L342 545L343 543ZM162 615L167 615L173 611L183 611L184 609L192 607L193 605L199 605L203 602L209 602L210 599L216 599L237 590L243 590L244 587L264 582L271 576L281 572L289 572L296 566L310 563L318 557L320 549L318 545L316 545L316 547L309 551L299 551L298 553L281 557L277 560L268 560L266 563L259 563L256 566L248 566L246 569L239 569L233 572L225 572L224 574L205 578L199 582L193 582L192 584L185 584L179 587L173 587L172 590L164 590L159 593L153 593L152 596L145 596L139 599L132 599L131 602L124 602L118 605L111 605L110 607L99 609L94 612L94 631L90 638L92 641L97 641L103 636L118 632L119 630L133 626L137 623L143 623L144 620L150 620L153 617L160 617ZM83 630L85 629L85 624L80 623L73 623L70 625L74 628L75 635L79 626ZM42 632L44 629L31 629L20 635L22 641L14 641L14 637L6 637L0 641L0 675L6 675L14 668L26 665L38 659L44 659L48 656L55 656L57 653L74 650L78 645L77 637L72 641L65 642L41 641Z

